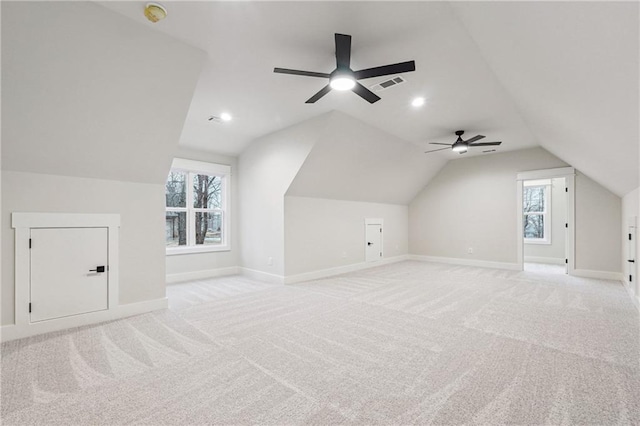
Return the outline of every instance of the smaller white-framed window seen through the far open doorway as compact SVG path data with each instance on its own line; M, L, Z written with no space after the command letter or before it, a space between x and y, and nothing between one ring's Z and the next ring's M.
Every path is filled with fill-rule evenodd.
M551 244L550 180L525 181L522 191L524 242Z

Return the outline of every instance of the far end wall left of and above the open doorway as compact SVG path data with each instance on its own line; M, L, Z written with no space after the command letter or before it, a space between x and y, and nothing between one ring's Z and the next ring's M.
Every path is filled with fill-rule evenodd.
M517 263L516 173L564 166L541 148L450 161L409 205L409 253Z

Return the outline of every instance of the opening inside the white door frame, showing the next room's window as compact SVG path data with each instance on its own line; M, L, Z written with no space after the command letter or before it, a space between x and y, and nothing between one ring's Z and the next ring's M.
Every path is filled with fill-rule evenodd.
M567 273L567 187L564 177L522 182L523 269Z

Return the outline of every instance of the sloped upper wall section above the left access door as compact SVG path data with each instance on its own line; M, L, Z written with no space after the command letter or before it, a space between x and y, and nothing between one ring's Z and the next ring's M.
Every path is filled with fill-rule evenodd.
M92 2L2 12L2 169L162 183L204 53Z

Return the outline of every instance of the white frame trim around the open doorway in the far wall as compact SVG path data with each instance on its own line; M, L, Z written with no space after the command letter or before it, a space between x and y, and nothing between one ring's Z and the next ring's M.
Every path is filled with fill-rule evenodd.
M517 265L520 271L524 270L524 236L522 235L523 211L522 192L525 180L565 178L567 188L567 244L565 248L567 273L573 275L576 270L575 263L575 177L573 167L558 167L554 169L529 170L516 175L516 241L517 241Z

